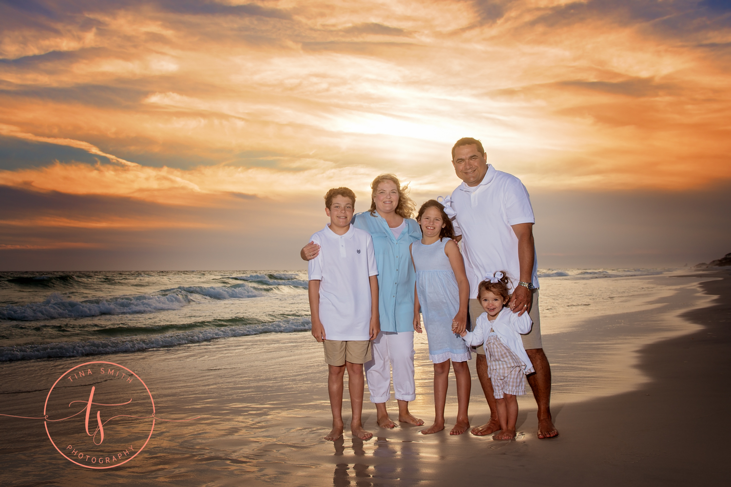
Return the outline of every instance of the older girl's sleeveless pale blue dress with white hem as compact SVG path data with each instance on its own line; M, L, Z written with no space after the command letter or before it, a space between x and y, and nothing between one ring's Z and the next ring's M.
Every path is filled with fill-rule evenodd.
M463 362L472 358L464 340L452 333L452 319L459 310L459 287L443 238L431 245L419 240L412 244L416 268L416 290L429 340L429 358L434 364L447 359Z

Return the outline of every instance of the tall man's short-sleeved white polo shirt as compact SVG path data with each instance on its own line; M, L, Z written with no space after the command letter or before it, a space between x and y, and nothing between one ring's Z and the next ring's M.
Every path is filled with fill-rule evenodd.
M462 235L462 253L469 279L470 297L486 274L506 271L512 285L520 280L518 237L512 225L535 223L528 190L520 180L488 165L482 183L466 183L452 192L457 212L455 234ZM534 256L532 281L538 287L538 259Z

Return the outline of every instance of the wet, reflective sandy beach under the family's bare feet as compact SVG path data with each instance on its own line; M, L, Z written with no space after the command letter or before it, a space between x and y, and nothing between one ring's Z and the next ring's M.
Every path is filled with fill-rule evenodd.
M624 281L623 281L624 280ZM608 280L606 280L608 281ZM553 415L561 432L538 440L535 404L520 398L518 439L414 427L377 428L366 402L363 442L325 442L330 425L322 350L311 335L270 333L176 348L0 364L6 415L42 415L67 369L106 360L133 369L154 396L158 422L145 449L121 467L85 469L50 444L43 421L0 418L0 483L7 486L412 486L458 482L533 486L695 485L721 480L729 426L726 369L731 271L621 277L644 299L617 299L601 315L561 319L547 306L544 347L553 367ZM542 287L542 295L550 288ZM548 301L547 301L548 303ZM586 307L588 309L588 306ZM417 400L433 419L432 368L417 336ZM484 423L474 358L472 425ZM529 390L529 388L528 388ZM456 413L450 383L447 422ZM366 395L367 397L367 395ZM395 402L389 403L395 410ZM349 418L349 402L344 416ZM83 427L83 426L82 426Z

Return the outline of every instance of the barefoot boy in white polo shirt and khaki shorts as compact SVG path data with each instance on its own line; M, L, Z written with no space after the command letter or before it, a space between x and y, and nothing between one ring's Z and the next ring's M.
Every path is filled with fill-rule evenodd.
M348 370L352 420L350 432L361 440L373 437L363 429L363 364L371 360L371 340L380 331L378 269L373 240L367 231L350 224L355 193L333 188L325 195L324 229L311 237L319 255L308 263L308 294L312 335L323 343L327 364L327 392L333 410L333 430L325 440L343 434L343 377Z

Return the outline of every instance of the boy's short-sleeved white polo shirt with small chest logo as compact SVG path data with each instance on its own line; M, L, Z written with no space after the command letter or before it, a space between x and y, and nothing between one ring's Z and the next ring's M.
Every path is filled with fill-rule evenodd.
M370 340L371 282L378 275L373 240L350 226L346 234L330 223L310 240L320 246L307 266L308 280L319 280L319 316L325 340Z

